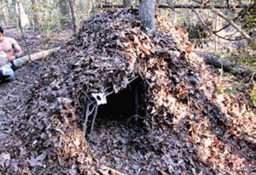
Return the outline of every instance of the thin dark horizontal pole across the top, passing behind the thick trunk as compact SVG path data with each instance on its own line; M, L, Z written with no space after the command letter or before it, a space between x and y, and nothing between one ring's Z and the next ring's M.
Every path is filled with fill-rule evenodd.
M157 8L209 8L206 5L197 5L197 4L159 4L156 5ZM230 4L224 5L224 4L215 4L212 5L214 8L248 8L249 4ZM115 5L115 4L102 4L99 5L99 8L124 8L123 5Z

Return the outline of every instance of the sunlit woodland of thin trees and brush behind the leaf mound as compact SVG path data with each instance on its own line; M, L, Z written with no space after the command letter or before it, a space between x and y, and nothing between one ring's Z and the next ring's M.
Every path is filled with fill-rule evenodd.
M45 45L49 44L51 37L60 36L61 33L64 36L72 36L71 31L65 31L68 29L78 31L82 21L100 13L106 7L109 8L113 5L122 7L123 4L128 7L136 6L138 3L138 1L131 0L124 0L124 2L113 0L23 0L20 2L28 17L24 30L38 31ZM223 18L212 13L210 9L186 8L191 4L198 5L190 0L158 0L155 3L156 7L160 7L159 13L161 15L166 16L173 24L189 31L189 40L195 43L195 48L204 48L204 51L222 55L222 59L228 58L233 62L248 66L250 69L255 69L255 60L253 59L255 53L250 47L247 47L247 42L242 40L243 37L239 32ZM255 5L252 6L255 2L253 0L211 1L211 3L223 6L224 8L217 9L223 12L226 17L233 19L250 37L255 37ZM184 7L173 8L178 4L183 4ZM0 14L0 25L5 29L16 28L14 32L20 33L16 6L15 0L2 0L0 2L2 12Z

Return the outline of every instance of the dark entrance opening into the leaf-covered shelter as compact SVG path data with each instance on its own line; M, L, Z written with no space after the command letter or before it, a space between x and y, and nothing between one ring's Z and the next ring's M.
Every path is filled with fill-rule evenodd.
M108 104L98 108L96 121L118 121L128 125L142 125L146 116L147 95L143 80L138 77L127 88L107 97Z

